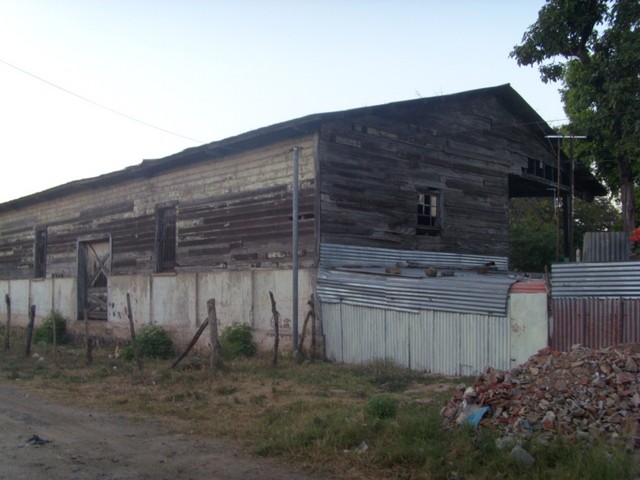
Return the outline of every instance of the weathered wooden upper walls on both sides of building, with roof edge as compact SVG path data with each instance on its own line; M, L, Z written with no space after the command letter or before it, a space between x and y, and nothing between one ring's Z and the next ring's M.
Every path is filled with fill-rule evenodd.
M288 268L294 145L303 267L320 243L508 256L509 198L548 194L555 168L550 129L536 122L503 86L312 115L145 161L0 208L0 279L33 275L45 227L47 276L76 275L77 242L96 235L111 239L113 275L151 273L156 206L167 202L177 272ZM429 189L440 228L419 232Z

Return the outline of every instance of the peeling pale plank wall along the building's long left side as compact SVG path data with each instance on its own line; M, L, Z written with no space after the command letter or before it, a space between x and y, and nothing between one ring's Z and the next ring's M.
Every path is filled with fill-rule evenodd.
M79 239L111 237L112 274L155 268L155 206L177 202L177 270L291 263L291 147L300 154L302 266L315 262L315 137L306 136L105 185L0 215L0 278L33 277L36 227L47 228L47 276L77 275Z

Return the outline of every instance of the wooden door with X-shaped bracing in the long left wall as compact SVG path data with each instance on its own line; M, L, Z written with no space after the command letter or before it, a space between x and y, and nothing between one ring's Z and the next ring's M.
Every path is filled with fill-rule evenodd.
M78 318L107 319L107 296L111 273L109 239L78 242Z

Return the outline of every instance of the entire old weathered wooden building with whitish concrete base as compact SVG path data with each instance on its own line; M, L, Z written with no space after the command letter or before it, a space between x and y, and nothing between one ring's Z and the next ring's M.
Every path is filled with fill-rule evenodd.
M87 310L96 334L126 337L129 293L136 322L178 343L213 297L223 325L251 323L270 345L269 291L291 333L293 147L304 317L322 245L506 257L509 199L553 195L558 165L563 198L604 194L559 162L553 133L503 85L310 115L145 160L0 205L0 294L18 323L30 305L70 319Z

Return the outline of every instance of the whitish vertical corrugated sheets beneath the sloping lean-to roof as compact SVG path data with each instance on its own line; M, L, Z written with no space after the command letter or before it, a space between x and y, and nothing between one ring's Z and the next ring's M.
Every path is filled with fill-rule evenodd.
M364 363L392 359L414 370L472 375L510 365L506 316L424 310L399 312L346 303L322 303L327 358Z

